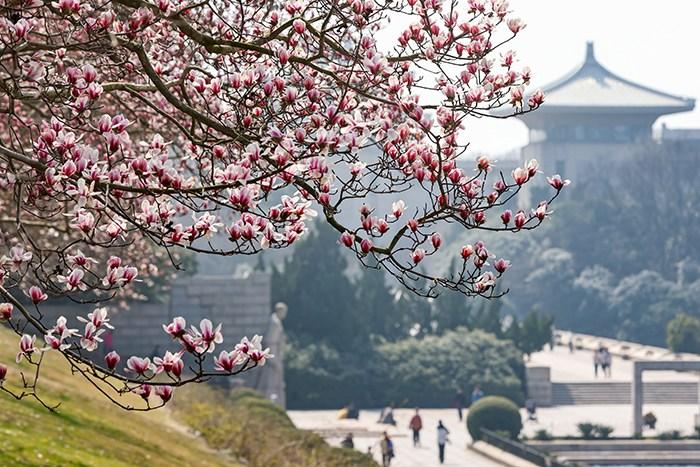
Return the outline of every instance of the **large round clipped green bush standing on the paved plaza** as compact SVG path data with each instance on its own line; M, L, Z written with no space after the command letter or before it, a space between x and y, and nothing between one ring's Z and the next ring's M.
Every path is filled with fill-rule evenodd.
M499 396L487 396L478 400L469 409L467 429L472 439L481 439L481 430L502 431L512 439L518 437L523 428L518 406L511 400Z

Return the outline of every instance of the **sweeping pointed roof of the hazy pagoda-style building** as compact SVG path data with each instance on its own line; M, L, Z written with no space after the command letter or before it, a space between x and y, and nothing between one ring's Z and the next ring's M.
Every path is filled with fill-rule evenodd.
M538 112L663 115L695 107L695 99L657 91L612 73L596 60L592 42L587 44L581 65L543 90L545 105Z

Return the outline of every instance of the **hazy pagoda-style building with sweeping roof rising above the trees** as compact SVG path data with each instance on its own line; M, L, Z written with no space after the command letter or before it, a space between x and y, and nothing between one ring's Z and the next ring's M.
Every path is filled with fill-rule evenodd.
M695 107L694 99L610 72L596 60L592 42L580 66L543 90L544 105L518 117L530 135L521 157L537 159L545 173L559 173L576 185L599 170L601 161L624 160L653 144L652 125L660 116Z

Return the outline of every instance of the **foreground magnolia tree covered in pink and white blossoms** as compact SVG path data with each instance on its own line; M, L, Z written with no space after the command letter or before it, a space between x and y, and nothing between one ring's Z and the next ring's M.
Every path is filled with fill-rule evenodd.
M153 361L92 357L112 328L98 305L157 274L153 258L177 267L185 250L285 248L319 215L339 248L417 293L491 297L509 262L483 242L461 247L458 272L419 268L444 248L441 227L535 228L567 183L549 178L551 197L513 214L506 204L536 176L535 161L512 174L486 157L473 170L456 164L465 119L544 100L526 92L530 71L504 47L524 26L506 1L0 5L0 316L31 370L2 387L17 398L48 406L37 387L46 352L131 410L272 357L259 336L226 345L220 325L183 318L164 323L172 348ZM401 29L379 41L389 22ZM420 204L399 200L409 189ZM370 198L394 202L356 212ZM98 307L49 322L50 297ZM0 381L11 373L0 366Z

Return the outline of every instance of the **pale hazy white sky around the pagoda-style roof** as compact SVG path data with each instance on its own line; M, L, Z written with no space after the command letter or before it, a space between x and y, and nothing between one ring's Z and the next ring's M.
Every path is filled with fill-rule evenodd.
M700 1L511 0L510 5L527 23L510 45L532 68L535 86L574 69L584 59L586 41L594 41L598 61L613 73L700 100ZM663 117L657 125L661 122L700 128L700 111ZM467 130L473 151L497 154L527 143L525 126L515 119L472 120Z

